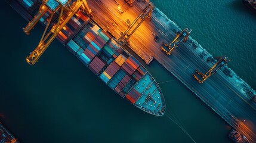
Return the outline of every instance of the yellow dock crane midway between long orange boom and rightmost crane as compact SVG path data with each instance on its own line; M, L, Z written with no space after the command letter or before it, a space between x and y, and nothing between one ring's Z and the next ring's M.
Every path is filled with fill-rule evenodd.
M161 49L165 52L166 55L170 55L171 51L176 48L180 42L187 42L189 39L189 34L192 32L192 29L184 29L181 33L177 34L176 38L168 45L167 43L162 43Z

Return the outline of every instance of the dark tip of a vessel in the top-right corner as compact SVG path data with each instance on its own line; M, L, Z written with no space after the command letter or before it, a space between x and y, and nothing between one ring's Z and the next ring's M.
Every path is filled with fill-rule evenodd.
M242 0L234 0L234 1L230 2L229 6L233 10L238 11L239 13L249 14L250 16L255 16L254 11L252 11L251 8L244 5Z

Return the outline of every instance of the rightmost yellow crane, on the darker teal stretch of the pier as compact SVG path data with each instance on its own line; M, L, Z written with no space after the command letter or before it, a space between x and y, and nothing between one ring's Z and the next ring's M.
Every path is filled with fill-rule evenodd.
M217 63L214 64L214 66L212 66L211 69L209 69L205 74L199 72L196 69L196 72L193 74L194 79L196 79L199 83L203 83L212 74L217 73L217 71L221 67L223 67L224 65L227 65L227 61L229 61L229 59L226 56L224 56L224 57L217 57L216 59L218 60Z

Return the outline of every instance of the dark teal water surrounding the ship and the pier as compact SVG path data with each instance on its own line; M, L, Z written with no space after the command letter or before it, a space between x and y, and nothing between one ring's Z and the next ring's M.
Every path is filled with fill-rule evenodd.
M240 0L153 1L212 55L256 89L256 15ZM101 82L59 42L35 66L24 58L43 29L30 36L26 21L1 1L0 121L20 142L192 142L168 117L144 113ZM231 142L231 129L156 61L146 66L161 84L168 110L196 142Z

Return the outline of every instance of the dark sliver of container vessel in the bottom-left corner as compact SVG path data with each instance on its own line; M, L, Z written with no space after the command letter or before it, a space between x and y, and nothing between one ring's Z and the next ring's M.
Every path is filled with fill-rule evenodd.
M11 133L5 129L5 127L2 125L2 123L0 122L0 142L4 143L4 142L10 142L10 143L18 143L17 139L14 138L13 135L11 135Z

